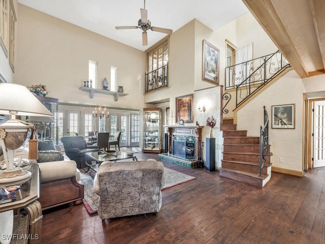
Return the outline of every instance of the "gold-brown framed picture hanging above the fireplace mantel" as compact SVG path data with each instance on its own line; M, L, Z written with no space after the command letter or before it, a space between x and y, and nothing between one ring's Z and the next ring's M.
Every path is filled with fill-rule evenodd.
M184 123L193 121L193 94L176 98L176 123L183 120Z

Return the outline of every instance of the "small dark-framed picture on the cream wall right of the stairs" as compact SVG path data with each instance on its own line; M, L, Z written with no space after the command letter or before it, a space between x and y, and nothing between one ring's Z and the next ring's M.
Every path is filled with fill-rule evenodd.
M295 104L272 106L273 129L295 129Z

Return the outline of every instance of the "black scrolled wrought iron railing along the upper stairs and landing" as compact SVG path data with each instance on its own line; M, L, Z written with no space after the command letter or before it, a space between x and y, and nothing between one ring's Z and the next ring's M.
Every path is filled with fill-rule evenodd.
M258 66L256 69L254 67ZM278 50L273 54L225 68L225 90L236 88L236 107L285 68L290 67Z

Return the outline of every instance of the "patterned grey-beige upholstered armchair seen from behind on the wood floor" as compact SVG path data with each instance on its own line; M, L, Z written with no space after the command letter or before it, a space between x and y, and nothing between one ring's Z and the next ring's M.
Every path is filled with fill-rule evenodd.
M98 215L105 219L157 214L161 207L164 165L159 161L103 162L93 182L100 196Z

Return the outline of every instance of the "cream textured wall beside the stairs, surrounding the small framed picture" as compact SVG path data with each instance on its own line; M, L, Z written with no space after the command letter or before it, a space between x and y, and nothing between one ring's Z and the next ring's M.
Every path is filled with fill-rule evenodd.
M288 91L290 93L288 94ZM247 130L248 136L259 136L263 126L263 106L272 123L272 106L295 104L295 129L272 129L269 126L269 143L271 144L272 166L303 171L303 96L305 88L302 79L294 70L289 71L275 83L268 86L263 93L241 108L237 113L237 129ZM279 158L284 162L280 163Z

